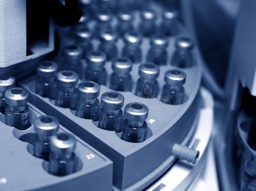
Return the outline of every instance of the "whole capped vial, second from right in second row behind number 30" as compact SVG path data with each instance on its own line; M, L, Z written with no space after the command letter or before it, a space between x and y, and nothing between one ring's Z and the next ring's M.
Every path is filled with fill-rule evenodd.
M159 66L153 63L144 63L139 66L140 78L137 81L136 95L151 98L157 95Z

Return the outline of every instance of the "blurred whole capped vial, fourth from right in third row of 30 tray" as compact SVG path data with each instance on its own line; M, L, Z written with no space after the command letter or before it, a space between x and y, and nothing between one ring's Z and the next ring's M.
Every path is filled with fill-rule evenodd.
M105 29L100 32L100 45L98 50L104 52L107 60L112 60L117 57L117 34L114 30Z

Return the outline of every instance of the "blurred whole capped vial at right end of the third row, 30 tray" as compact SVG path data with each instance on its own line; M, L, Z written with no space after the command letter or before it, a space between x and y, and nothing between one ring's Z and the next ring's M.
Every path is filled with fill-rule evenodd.
M192 50L194 42L188 37L178 37L175 41L176 50L172 55L171 64L180 68L187 68L194 65Z

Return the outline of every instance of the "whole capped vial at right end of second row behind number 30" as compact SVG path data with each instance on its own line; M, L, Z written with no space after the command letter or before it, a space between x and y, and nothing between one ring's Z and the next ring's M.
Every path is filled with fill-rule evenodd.
M168 70L164 74L165 85L162 98L167 104L182 104L184 99L183 84L186 81L186 73L180 70Z

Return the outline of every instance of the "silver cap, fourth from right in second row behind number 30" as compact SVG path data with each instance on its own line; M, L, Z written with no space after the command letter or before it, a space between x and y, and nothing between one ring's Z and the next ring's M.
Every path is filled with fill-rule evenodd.
M92 50L86 54L86 62L92 68L103 67L107 56L104 52Z

